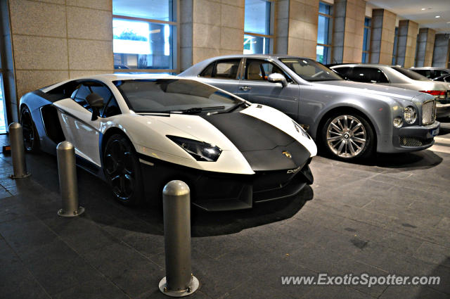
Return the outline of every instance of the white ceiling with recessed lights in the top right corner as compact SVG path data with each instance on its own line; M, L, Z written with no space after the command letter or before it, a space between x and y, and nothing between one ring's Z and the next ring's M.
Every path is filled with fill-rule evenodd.
M385 8L397 13L400 20L413 20L420 27L432 28L437 33L450 33L450 0L368 0L367 4ZM440 18L435 18L436 15Z

